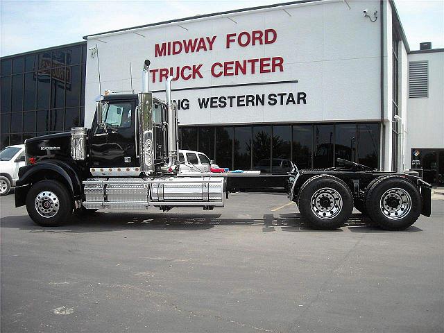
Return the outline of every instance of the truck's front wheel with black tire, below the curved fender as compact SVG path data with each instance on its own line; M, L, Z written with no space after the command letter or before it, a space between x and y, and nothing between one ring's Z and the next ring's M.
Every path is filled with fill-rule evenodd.
M28 191L26 210L38 225L57 227L65 223L72 212L71 196L62 183L42 180Z

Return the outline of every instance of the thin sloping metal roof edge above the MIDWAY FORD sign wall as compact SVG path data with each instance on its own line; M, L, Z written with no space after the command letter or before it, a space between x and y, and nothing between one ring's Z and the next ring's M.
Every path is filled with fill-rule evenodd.
M324 0L298 0L298 1L289 1L289 2L282 2L282 3L273 3L271 5L264 5L264 6L255 6L255 7L234 9L234 10L226 10L225 12L213 12L213 13L210 13L210 14L183 17L181 19L170 19L168 21L155 22L155 23L150 23L150 24L143 24L142 26L131 26L129 28L121 28L121 29L112 30L112 31L105 31L103 33L93 33L92 35L85 35L85 36L83 36L83 39L87 40L88 37L106 35L108 33L119 33L119 32L122 32L122 31L130 31L130 30L139 29L139 28L147 28L149 26L161 26L162 24L171 24L171 23L185 22L185 21L189 21L191 19L203 19L203 18L206 18L206 17L234 14L234 13L237 13L237 12L248 12L248 11L251 11L251 10L260 10L260 9L266 9L266 8L276 8L276 7L280 7L280 6L295 5L295 4L298 4L298 3L311 3L311 2L314 3L314 2L320 2L320 1L324 1Z

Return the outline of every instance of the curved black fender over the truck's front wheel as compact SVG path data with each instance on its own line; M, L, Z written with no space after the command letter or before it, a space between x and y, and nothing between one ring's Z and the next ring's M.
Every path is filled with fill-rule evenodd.
M33 183L44 179L58 180L66 185L73 201L82 198L82 181L78 171L67 162L46 160L19 169L15 188L15 207L26 204L26 194Z

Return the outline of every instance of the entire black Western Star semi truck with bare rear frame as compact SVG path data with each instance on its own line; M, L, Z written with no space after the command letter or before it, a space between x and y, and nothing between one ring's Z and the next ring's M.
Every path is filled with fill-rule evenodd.
M212 210L224 206L236 180L282 180L282 175L248 172L180 174L172 78L167 79L166 101L153 97L147 89L147 61L143 92L102 96L92 128L26 140L26 166L19 169L15 205L26 205L35 223L62 225L75 211L103 208ZM343 167L295 168L284 175L289 200L311 228L339 228L354 206L386 230L408 228L420 214L430 216L431 186L421 178L338 162Z

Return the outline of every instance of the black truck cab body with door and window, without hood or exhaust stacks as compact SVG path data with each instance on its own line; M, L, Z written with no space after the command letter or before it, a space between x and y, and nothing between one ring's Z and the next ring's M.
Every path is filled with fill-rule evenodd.
M146 170L151 173L160 171L160 165L169 159L167 105L151 94L144 102L150 105L145 113L151 114L147 116L151 118L148 131L152 140L152 164L156 166ZM139 114L142 113L139 103L137 94L112 92L105 94L98 103L92 128L87 133L87 160L92 176L139 176L142 173L138 127L144 116Z

